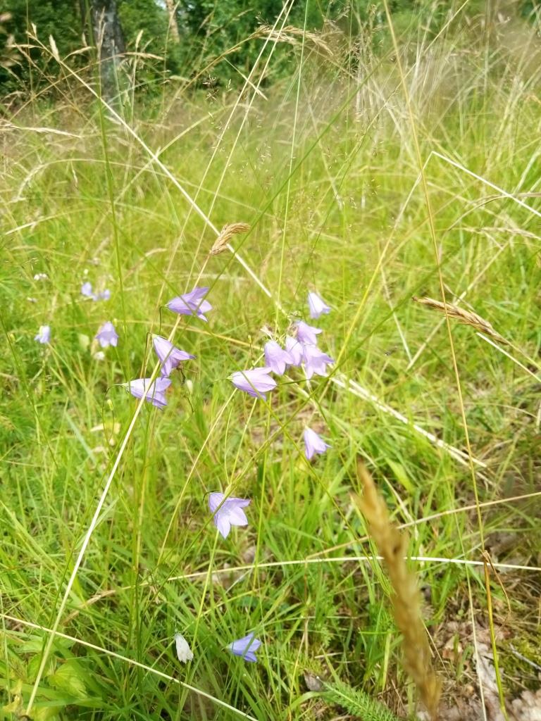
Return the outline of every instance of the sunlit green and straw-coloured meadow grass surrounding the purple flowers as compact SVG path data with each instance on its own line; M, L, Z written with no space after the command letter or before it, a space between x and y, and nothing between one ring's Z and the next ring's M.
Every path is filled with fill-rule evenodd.
M540 50L524 22L479 27L457 6L438 37L378 55L300 32L296 74L267 87L278 27L242 94L127 90L113 108L61 61L56 102L6 118L4 717L32 698L32 719L330 719L359 692L413 717L359 457L408 528L444 703L477 688L488 627L506 699L537 689ZM237 222L236 253L211 255ZM110 300L83 298L86 280ZM197 283L208 324L177 322L164 304ZM452 318L449 335L412 301L441 287L509 345ZM309 288L332 306L330 377L236 391L268 333L307 319ZM99 360L106 320L120 340ZM150 375L149 334L175 327L197 359L160 411L119 384ZM332 445L312 464L305 425ZM215 490L252 499L226 540ZM252 630L257 665L226 650Z

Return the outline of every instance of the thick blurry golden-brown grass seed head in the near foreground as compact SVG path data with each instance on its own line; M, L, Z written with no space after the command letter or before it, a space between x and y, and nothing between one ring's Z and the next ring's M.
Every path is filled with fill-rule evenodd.
M432 719L437 718L441 682L432 668L428 637L421 615L421 594L415 576L408 571L405 557L408 537L393 526L387 505L377 492L374 480L362 461L357 474L364 494L356 498L368 523L368 531L376 542L389 575L394 595L392 608L395 622L403 634L404 668L413 678L418 694Z

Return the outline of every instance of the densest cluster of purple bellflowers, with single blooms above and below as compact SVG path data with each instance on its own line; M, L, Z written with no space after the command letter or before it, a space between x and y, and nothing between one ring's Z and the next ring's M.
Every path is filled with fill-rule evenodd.
M330 313L330 306L327 306L315 291L308 293L308 308L310 318L313 319L319 318L324 313ZM327 366L334 361L317 347L317 336L322 329L299 320L294 324L293 332L294 335L286 335L283 348L276 340L266 342L265 366L233 373L231 376L233 385L254 398L266 400L266 394L277 386L271 373L283 376L288 368L302 366L308 381L313 376L326 376ZM316 454L325 453L327 448L330 448L312 428L304 429L303 438L304 454L308 460Z

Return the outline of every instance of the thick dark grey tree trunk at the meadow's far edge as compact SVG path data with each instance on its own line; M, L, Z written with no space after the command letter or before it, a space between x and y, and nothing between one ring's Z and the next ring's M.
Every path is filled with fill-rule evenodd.
M92 32L100 55L102 97L113 102L118 95L117 69L124 52L124 38L116 0L91 0Z

